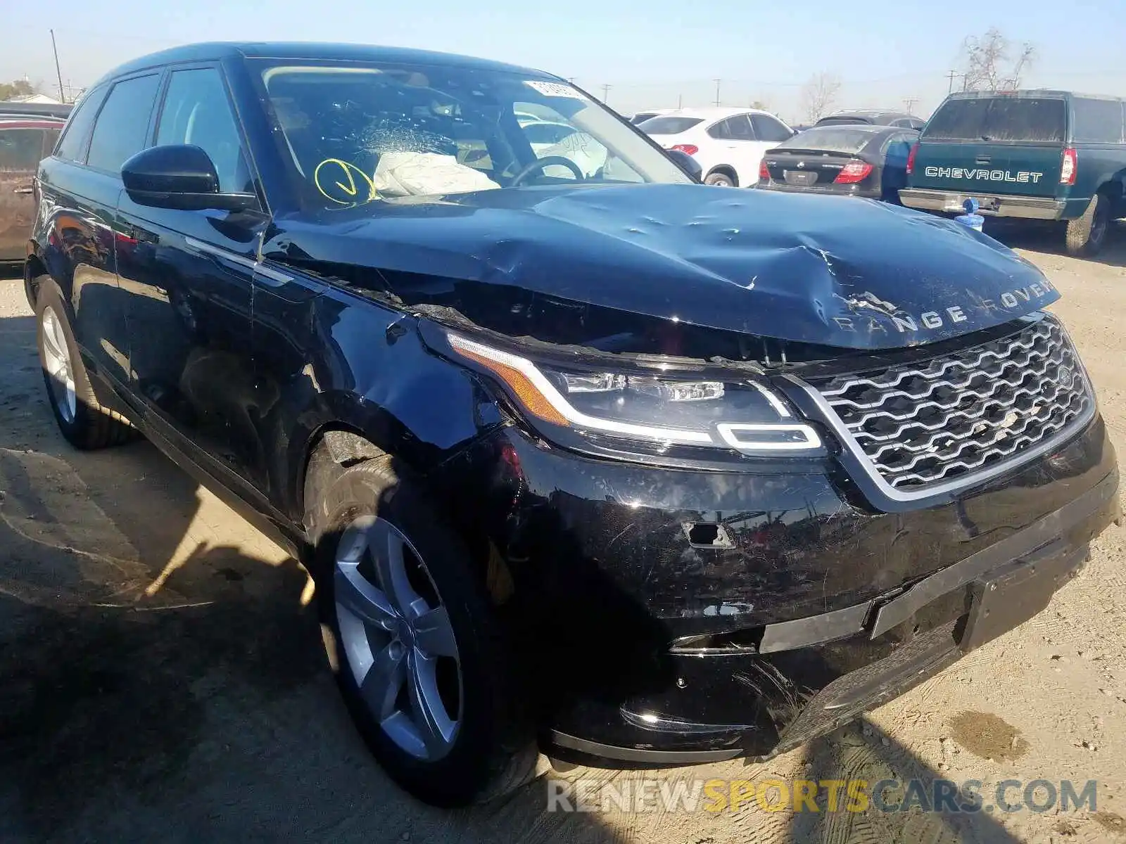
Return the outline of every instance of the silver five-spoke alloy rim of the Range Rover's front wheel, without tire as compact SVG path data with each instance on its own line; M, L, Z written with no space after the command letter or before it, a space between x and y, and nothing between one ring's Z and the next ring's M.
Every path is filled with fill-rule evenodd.
M357 518L337 547L333 590L340 644L364 703L401 749L441 758L461 726L462 671L422 557L391 522Z

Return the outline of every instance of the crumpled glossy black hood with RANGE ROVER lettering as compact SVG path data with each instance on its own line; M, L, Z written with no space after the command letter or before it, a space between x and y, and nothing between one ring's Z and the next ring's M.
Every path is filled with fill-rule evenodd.
M1031 263L953 221L863 199L689 185L378 201L296 221L266 253L856 349L935 342L1058 298Z

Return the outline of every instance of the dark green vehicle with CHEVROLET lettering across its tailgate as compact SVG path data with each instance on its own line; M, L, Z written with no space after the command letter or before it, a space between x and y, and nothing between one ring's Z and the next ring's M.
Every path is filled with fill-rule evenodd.
M908 160L910 208L1061 221L1067 251L1092 255L1126 215L1121 98L1067 91L951 93Z

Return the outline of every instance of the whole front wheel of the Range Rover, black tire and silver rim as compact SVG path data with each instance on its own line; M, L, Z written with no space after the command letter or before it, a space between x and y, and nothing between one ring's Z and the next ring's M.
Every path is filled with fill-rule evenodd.
M435 806L483 802L528 782L534 729L465 544L390 457L315 470L325 646L372 753Z

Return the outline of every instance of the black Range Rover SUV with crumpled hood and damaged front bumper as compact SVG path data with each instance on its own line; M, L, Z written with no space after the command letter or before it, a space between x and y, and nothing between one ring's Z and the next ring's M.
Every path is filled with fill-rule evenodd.
M575 132L529 142L529 107ZM63 433L143 433L287 545L436 803L537 748L792 747L1039 611L1118 515L1036 268L695 185L538 71L181 47L93 86L37 190Z

